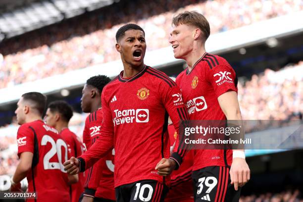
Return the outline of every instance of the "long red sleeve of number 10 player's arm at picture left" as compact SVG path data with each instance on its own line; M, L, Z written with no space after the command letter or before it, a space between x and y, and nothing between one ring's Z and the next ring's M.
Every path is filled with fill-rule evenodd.
M108 102L105 99L105 92L106 89L102 91L101 95L103 110L101 134L94 145L79 157L80 172L84 172L84 170L92 167L95 162L97 162L101 157L105 157L106 154L113 149L114 126Z

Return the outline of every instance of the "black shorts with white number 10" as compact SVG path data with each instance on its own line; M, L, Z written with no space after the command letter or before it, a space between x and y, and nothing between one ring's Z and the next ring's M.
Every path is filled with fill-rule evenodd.
M163 202L168 187L155 180L141 180L115 189L117 202Z

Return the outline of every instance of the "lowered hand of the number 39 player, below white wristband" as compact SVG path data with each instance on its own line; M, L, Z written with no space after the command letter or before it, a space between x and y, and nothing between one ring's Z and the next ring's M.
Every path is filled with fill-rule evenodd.
M236 191L238 187L244 186L251 179L251 170L245 158L233 158L229 173L231 184L234 185Z

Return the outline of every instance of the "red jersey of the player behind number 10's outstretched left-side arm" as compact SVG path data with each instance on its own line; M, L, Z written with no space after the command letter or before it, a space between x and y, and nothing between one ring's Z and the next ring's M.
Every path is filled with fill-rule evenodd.
M89 149L98 139L103 120L102 109L90 113L86 118L83 131L83 142ZM85 195L115 200L114 190L114 151L101 158L86 171Z

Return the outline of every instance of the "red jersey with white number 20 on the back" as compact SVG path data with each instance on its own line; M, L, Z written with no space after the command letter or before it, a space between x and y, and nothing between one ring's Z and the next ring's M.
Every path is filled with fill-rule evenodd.
M32 152L32 168L26 178L28 191L37 192L37 202L70 202L63 162L69 157L58 131L42 120L22 124L17 133L18 156ZM34 201L34 200L27 200Z

